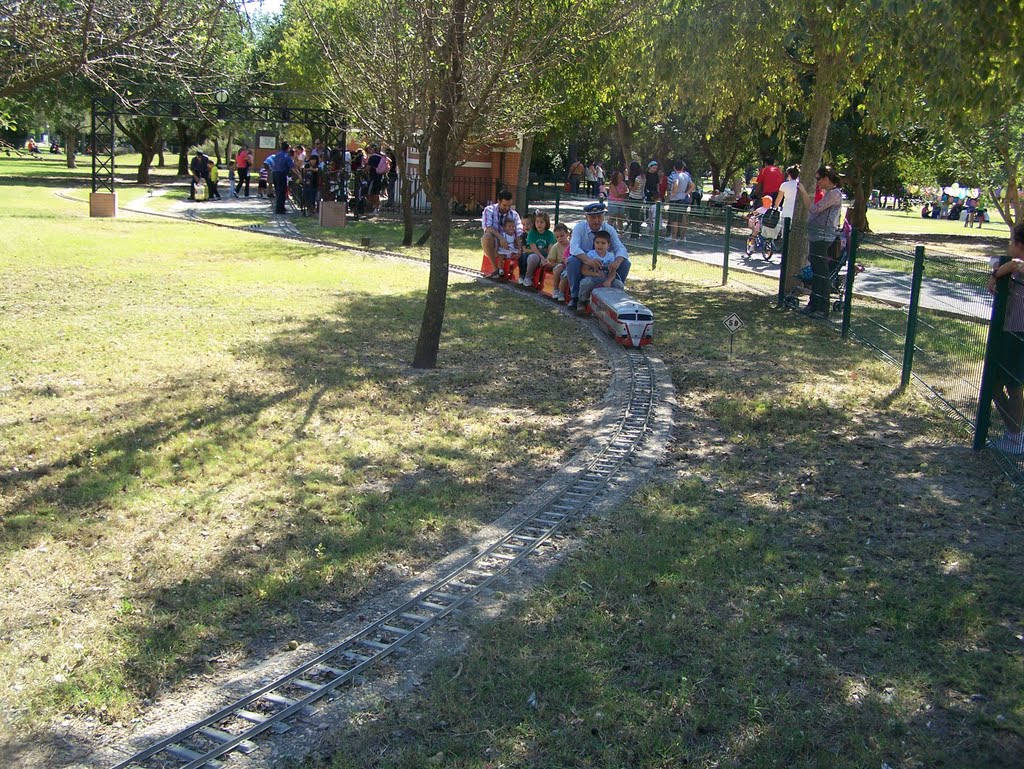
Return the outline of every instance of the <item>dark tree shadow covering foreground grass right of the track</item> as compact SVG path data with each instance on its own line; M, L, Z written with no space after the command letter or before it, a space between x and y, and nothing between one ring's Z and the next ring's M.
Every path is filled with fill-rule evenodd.
M767 480L708 473L642 492L426 695L340 737L332 766L438 753L451 766L1020 764L1011 515L965 501L941 523L899 519L893 508L946 496L926 489L922 504L881 480L873 507L826 502L824 484L792 508L763 505Z

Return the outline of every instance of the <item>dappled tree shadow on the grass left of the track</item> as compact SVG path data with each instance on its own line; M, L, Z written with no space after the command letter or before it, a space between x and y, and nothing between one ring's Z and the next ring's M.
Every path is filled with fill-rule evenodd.
M7 474L5 493L22 495L5 521L8 552L45 535L95 544L109 535L106 511L126 497L144 488L153 499L161 488L173 489L158 528L133 544L140 552L147 545L155 550L165 531L200 537L207 525L219 526L218 498L233 483L267 474L273 479L246 497L246 508L259 511L258 517L243 516L195 575L169 580L159 562L142 559L132 579L154 587L129 592L130 606L113 623L119 664L95 671L85 683L70 677L45 697L91 710L97 702L92 687L130 692L130 701L206 670L225 650L263 654L276 639L301 637L308 624L335 618L368 590L387 587L378 580L387 564L436 558L467 529L503 512L515 483L496 487L496 479L549 472L537 455L513 454L499 461L497 475L484 477L494 460L481 453L523 445L538 433L520 419L474 415L495 407L519 412L527 422L560 414L573 402L560 388L569 383L582 390L584 378L592 380L592 364L567 375L521 364L543 365L556 355L569 365L589 362L589 343L566 353L552 330L577 330L561 317L538 323L536 308L504 292L455 285L449 308L444 368L436 372L406 365L422 312L419 294L350 293L331 313L234 351L258 359L269 381L289 386L230 383L227 392L182 410L195 400L189 390L196 383L171 383L125 403L122 426L102 439L34 469L31 477ZM353 402L360 393L367 399ZM461 429L445 439L424 427L439 422L445 409L483 420L485 439L466 437ZM349 424L353 411L371 423L399 420L399 432L391 427L378 438L390 435L400 444L398 465L374 465L341 433L319 445L331 436L324 425ZM317 451L325 452L318 463L296 460ZM228 454L234 467L219 461Z

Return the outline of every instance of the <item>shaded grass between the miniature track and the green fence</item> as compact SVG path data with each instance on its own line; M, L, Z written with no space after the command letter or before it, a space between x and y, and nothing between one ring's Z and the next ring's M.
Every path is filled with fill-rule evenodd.
M656 478L319 766L1020 765L1021 504L988 457L831 333L635 290L680 401Z

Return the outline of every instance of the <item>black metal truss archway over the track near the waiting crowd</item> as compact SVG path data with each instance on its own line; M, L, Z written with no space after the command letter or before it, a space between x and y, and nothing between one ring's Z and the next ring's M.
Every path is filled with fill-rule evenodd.
M226 96L226 92L220 91ZM118 115L170 120L223 120L237 123L299 123L313 127L313 138L347 143L343 120L330 110L306 106L181 102L152 99L126 104L115 96L92 99L92 191L114 191L114 149ZM316 135L317 130L321 132Z

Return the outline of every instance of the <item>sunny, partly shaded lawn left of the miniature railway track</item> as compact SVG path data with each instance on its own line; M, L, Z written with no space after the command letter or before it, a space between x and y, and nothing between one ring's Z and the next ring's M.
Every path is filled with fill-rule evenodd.
M123 719L350 610L556 469L604 388L567 318L464 279L417 373L421 267L48 186L0 206L8 725Z

